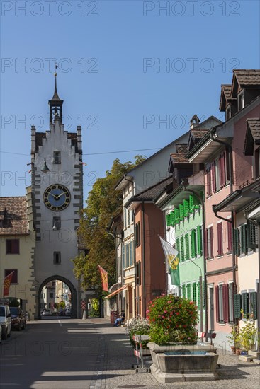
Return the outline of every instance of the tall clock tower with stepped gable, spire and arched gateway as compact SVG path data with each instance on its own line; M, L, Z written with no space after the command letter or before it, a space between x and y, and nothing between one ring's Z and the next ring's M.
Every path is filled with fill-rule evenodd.
M78 255L77 228L83 207L81 127L64 130L62 104L55 92L50 105L50 129L31 129L32 204L35 226L33 277L35 312L40 316L40 292L55 279L72 293L72 315L79 317L80 288L72 259ZM53 275L58 274L58 275Z

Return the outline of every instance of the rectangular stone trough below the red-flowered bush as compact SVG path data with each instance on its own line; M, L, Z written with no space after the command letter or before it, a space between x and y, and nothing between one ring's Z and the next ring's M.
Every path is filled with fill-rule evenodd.
M203 345L165 345L149 342L151 373L159 383L176 381L213 381L218 355L215 347Z

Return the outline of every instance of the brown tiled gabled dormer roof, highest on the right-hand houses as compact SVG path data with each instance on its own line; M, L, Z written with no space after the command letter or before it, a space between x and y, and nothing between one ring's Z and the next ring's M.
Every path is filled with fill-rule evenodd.
M260 88L260 69L234 69L231 97L237 98L239 88Z

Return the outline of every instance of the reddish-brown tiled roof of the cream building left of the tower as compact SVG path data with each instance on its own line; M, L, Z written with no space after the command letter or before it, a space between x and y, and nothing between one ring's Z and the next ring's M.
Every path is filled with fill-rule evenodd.
M29 233L26 197L0 197L0 235Z

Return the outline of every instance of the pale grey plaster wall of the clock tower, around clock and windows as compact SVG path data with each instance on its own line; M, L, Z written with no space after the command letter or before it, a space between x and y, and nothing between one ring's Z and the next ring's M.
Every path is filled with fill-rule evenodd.
M61 163L53 163L53 151L60 151ZM42 173L44 158L50 172ZM50 125L43 146L35 153L35 281L40 284L55 275L69 280L76 289L78 281L74 277L72 259L77 256L77 233L79 209L82 202L81 170L79 154L75 152L71 140L60 121ZM52 211L43 203L43 194L47 187L60 183L71 194L69 206L62 211ZM53 217L61 218L61 229L53 231ZM54 264L53 252L61 252L61 263Z

